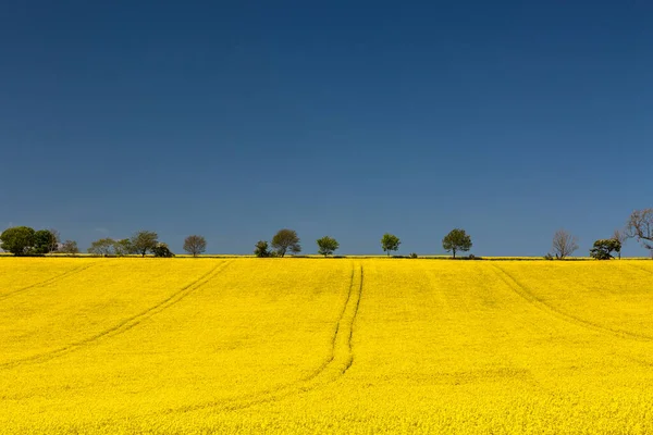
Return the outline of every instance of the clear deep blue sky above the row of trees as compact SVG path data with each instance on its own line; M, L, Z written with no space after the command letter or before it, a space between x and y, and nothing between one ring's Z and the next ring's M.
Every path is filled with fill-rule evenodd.
M652 79L649 1L3 2L0 226L584 256L653 207Z

